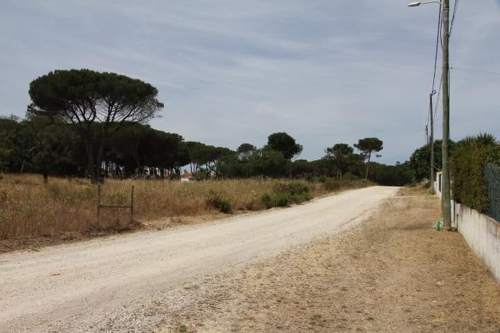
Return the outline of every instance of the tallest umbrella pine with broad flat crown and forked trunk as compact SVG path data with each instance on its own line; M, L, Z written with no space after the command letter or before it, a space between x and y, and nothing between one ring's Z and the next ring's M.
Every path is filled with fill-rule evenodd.
M109 137L126 123L149 121L163 108L158 90L149 83L90 69L51 71L30 83L29 94L32 113L58 116L76 126L94 181L100 180Z

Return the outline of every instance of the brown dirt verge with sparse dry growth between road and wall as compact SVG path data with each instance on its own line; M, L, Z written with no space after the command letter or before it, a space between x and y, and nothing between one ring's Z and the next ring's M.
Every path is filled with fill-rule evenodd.
M437 198L402 189L357 228L186 289L155 332L499 333L500 284L437 219Z

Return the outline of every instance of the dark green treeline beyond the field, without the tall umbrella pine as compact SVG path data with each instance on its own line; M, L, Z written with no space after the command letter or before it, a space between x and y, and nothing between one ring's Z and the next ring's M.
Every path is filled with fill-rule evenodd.
M93 126L99 127L99 123ZM53 176L88 177L85 143L76 128L58 117L28 113L26 119L0 118L0 171L41 173ZM99 130L95 130L99 133ZM97 137L92 144L98 146ZM365 140L366 141L366 140ZM185 141L141 123L126 123L108 140L101 163L101 176L113 178L180 178L190 171L199 180L208 178L368 178L384 185L411 181L406 164L387 166L367 162L371 146L335 144L319 160L295 160L302 146L287 133L273 133L257 148L241 144L235 151L201 142ZM372 151L373 152L373 151Z

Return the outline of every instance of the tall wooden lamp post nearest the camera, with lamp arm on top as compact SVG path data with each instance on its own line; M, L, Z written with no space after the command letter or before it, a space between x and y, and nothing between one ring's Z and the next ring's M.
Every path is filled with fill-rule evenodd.
M420 1L409 3L409 7L417 7L425 3L440 3L442 5L442 93L443 93L443 137L442 137L442 211L444 229L451 229L451 196L449 176L449 0Z

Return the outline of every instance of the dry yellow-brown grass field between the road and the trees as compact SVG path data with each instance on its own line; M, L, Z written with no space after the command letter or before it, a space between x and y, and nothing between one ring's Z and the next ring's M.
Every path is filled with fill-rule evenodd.
M134 185L134 218L151 221L169 216L197 216L210 212L210 191L231 202L233 210L263 210L260 196L271 193L276 182L291 180L217 180L179 182L170 180L106 180L101 203L130 203ZM313 197L328 193L322 183L308 183ZM365 186L342 183L342 188ZM65 233L130 228L128 210L101 210L97 219L97 187L78 178L39 175L3 175L0 180L0 239L54 236Z

